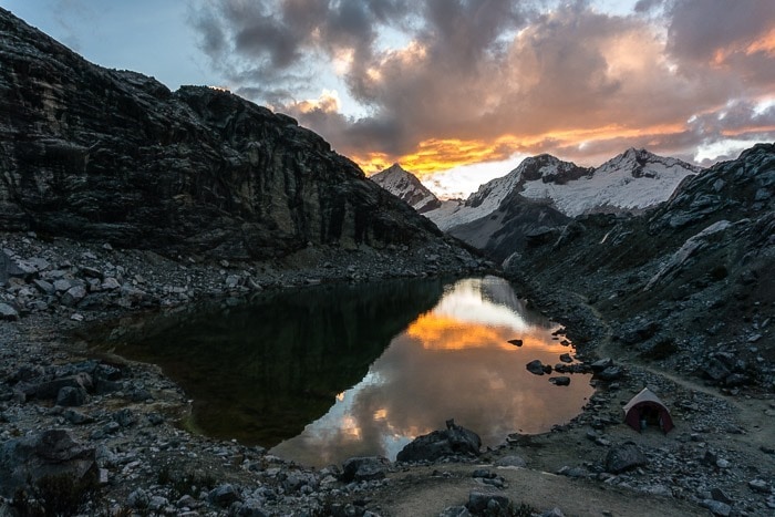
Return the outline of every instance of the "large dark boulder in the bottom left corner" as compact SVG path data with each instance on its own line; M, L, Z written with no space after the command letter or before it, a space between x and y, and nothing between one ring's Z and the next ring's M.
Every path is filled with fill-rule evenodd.
M65 475L74 480L96 476L94 449L75 442L65 430L48 430L0 445L0 495L12 497L28 482Z

